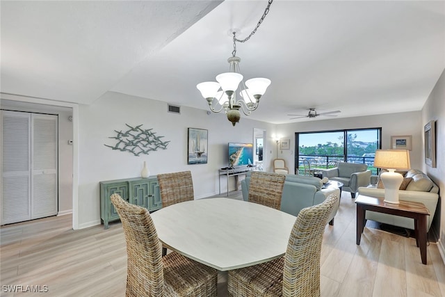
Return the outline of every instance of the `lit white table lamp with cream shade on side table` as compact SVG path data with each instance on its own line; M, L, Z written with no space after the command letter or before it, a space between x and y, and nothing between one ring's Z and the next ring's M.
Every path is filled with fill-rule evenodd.
M407 150L376 150L374 167L387 169L380 178L385 186L385 202L399 204L398 188L403 182L403 176L395 170L410 169L410 152Z

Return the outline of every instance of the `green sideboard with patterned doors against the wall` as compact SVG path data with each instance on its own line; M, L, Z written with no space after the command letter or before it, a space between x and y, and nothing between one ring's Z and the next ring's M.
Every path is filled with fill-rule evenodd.
M156 176L130 179L115 179L100 184L100 218L104 229L108 229L108 222L119 220L118 212L111 203L110 196L119 194L122 199L131 204L145 207L149 211L161 209L162 200Z

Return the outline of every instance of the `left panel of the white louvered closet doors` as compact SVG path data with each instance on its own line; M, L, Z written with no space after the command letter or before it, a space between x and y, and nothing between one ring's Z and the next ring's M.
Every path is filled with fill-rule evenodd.
M31 219L31 114L1 111L1 224Z

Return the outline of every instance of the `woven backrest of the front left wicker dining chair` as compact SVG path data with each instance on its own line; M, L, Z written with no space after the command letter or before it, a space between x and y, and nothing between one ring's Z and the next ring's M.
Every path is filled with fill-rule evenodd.
M161 245L148 210L129 204L118 194L111 195L111 202L127 241L127 296L163 296Z

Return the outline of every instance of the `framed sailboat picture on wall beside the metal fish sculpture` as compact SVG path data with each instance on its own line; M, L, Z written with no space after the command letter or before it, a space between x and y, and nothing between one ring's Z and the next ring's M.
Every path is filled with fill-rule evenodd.
M206 129L188 128L188 164L207 164L207 135Z

